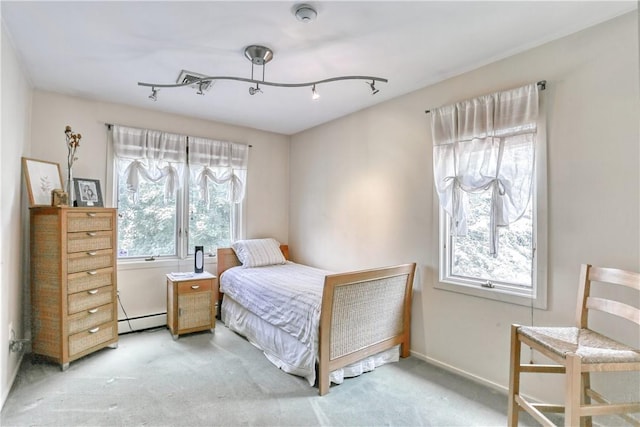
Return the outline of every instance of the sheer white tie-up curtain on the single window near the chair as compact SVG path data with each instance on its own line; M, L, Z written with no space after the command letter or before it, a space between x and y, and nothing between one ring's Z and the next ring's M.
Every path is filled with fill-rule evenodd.
M538 120L535 83L431 111L434 179L451 233L467 233L467 193L491 191L490 253L498 227L520 218L534 180Z

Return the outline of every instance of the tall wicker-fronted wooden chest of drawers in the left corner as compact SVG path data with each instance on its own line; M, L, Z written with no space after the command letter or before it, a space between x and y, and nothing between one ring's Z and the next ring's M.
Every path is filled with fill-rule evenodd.
M31 208L31 336L59 363L118 341L116 210Z

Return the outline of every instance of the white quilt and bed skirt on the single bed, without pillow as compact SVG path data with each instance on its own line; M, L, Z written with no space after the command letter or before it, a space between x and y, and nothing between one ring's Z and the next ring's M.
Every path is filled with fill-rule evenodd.
M315 383L320 306L329 272L287 262L257 268L233 267L220 277L222 320L260 348L285 372ZM357 376L399 360L394 347L331 373L331 381Z

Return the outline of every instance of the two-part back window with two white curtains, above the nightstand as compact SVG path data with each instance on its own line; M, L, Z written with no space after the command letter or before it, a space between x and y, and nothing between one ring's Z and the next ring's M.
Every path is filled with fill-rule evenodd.
M248 146L114 125L120 259L214 253L241 235Z

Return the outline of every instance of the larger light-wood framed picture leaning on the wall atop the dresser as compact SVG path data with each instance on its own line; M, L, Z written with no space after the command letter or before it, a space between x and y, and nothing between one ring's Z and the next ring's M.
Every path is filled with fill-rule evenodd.
M58 163L22 158L27 182L29 206L51 206L51 191L62 188L62 174Z

